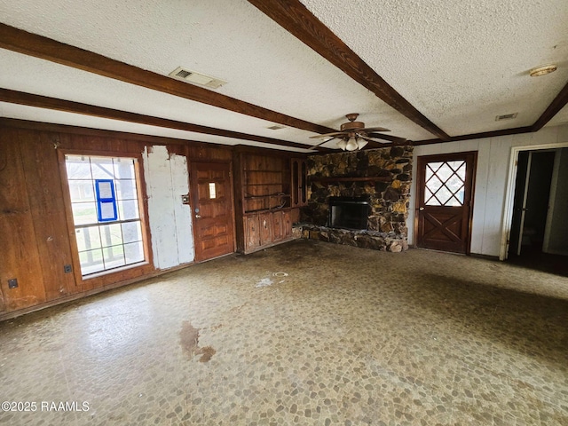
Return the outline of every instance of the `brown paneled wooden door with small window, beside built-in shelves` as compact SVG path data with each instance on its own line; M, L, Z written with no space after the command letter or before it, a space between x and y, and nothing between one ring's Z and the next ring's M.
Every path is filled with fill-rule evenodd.
M234 252L231 164L192 162L190 182L195 260Z

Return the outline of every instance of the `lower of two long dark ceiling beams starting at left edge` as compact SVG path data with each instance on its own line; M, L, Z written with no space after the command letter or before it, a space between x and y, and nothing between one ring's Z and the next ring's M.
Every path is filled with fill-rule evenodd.
M0 101L9 102L12 104L53 109L66 113L91 115L94 117L119 120L122 122L135 122L138 124L146 124L149 126L156 126L167 129L193 131L195 133L220 136L224 138L250 140L275 146L289 146L302 149L309 149L312 147L308 144L299 144L296 142L290 142L288 140L264 138L262 136L249 135L247 133L241 133L239 131L216 129L213 127L201 126L200 124L192 124L189 122L177 122L176 120L154 117L151 115L130 113L118 109L111 109L102 106L92 106L79 102L73 102L70 100L49 98L46 96L25 93L22 91L12 91L9 89L0 88ZM321 149L321 151L324 150L324 148Z

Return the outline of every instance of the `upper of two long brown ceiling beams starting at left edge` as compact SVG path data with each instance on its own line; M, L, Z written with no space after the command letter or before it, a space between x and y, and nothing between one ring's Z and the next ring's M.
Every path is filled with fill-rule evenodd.
M335 131L335 129L320 126L313 122L306 122L286 114L280 114L262 106L234 99L193 84L180 82L169 76L159 75L118 60L106 58L106 56L98 53L59 43L51 38L28 33L3 23L0 23L0 48L17 51L40 59L47 59L68 67L104 75L125 83L136 84L146 89L162 91L180 98L201 102L202 104L217 106L268 122L278 122L296 129L316 133Z

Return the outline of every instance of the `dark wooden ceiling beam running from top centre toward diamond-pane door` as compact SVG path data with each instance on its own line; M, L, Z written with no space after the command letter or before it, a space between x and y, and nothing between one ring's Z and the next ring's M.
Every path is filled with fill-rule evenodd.
M444 130L418 111L410 102L402 97L375 73L357 53L343 43L343 41L327 28L304 4L299 0L248 0L269 18L276 21L290 34L296 36L301 42L316 51L341 69L353 80L373 91L377 97L392 106L400 114L430 131L442 140L450 137Z

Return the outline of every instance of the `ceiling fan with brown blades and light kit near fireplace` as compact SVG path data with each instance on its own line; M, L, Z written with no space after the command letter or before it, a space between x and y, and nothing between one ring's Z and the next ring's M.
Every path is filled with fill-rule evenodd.
M362 149L369 142L379 142L382 144L385 143L385 140L388 142L406 142L406 138L398 138L398 136L383 135L383 133L377 133L382 131L390 131L389 129L385 129L384 127L365 127L364 122L355 121L357 120L358 116L359 114L345 115L349 122L344 122L341 125L340 131L312 136L311 138L324 138L325 140L318 145L312 146L310 149L315 149L318 146L322 146L326 142L329 142L333 139L339 139L337 141L337 147L343 149L343 151L355 151L357 149Z

